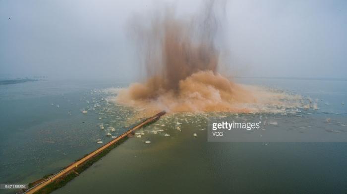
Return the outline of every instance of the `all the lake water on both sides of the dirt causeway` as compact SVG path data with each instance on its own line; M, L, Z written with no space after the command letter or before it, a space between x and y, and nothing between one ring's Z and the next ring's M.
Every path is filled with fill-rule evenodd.
M317 99L319 108L288 116L238 115L240 119L262 116L277 123L265 128L347 134L347 107L342 104L347 81L238 81ZM0 86L0 182L26 183L54 173L99 147L97 141L110 141L109 127L115 127L115 136L124 131L134 110L107 101L110 94L100 90L118 85L40 81ZM164 117L55 193L347 192L346 142L207 142L208 116Z

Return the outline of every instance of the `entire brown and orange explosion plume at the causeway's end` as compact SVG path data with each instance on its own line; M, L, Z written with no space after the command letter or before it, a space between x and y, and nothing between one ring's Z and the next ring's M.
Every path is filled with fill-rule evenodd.
M216 6L208 1L202 12L190 19L177 17L173 9L157 14L149 23L135 18L131 28L146 81L120 90L116 101L167 112L259 111L251 105L264 104L263 93L217 72L220 50L216 36L222 24L216 17Z

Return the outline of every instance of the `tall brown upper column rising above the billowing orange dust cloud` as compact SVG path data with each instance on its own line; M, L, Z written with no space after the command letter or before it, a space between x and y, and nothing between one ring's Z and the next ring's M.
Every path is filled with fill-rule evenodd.
M133 19L131 28L147 79L165 77L158 87L177 90L179 81L193 73L216 73L219 51L215 37L221 24L215 16L214 1L204 5L202 11L191 18L178 18L174 9L167 7L164 12L159 10L150 22Z

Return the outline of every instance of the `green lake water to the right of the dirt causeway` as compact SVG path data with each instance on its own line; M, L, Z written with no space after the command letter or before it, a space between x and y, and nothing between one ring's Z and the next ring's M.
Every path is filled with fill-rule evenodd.
M207 142L205 129L208 116L249 121L261 117L268 120L264 129L346 136L346 82L243 81L317 99L318 109L292 114L166 116L55 193L345 193L346 142Z

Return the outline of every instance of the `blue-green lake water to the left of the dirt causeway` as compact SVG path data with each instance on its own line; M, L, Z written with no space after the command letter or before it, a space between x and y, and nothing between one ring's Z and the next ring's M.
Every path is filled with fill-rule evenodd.
M55 173L100 147L97 141L110 141L110 127L115 136L124 131L130 110L108 102L101 90L117 86L82 81L0 85L0 183L29 183Z

